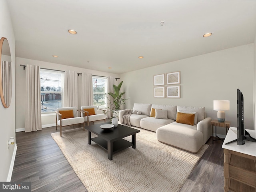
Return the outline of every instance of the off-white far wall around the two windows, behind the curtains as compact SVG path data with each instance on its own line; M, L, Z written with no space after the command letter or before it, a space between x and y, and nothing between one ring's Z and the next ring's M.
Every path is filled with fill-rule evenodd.
M58 59L58 58L56 58ZM26 70L23 70L23 66L20 65L37 65L40 68L53 69L53 70L72 70L78 73L88 72L92 75L97 76L112 76L119 78L118 74L100 72L95 70L89 70L84 68L77 68L72 66L66 66L61 64L43 62L38 60L31 60L25 58L16 57L16 131L24 130L25 128L25 89L26 89ZM81 87L82 76L78 76L78 88ZM80 90L78 90L78 106L81 106ZM46 114L42 115L42 128L48 126L55 126L56 124L56 114Z

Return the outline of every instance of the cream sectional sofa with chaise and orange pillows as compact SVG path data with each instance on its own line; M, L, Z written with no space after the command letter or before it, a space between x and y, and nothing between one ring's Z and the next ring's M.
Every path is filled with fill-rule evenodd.
M121 123L126 112L119 113ZM211 118L206 117L204 107L134 103L128 118L132 126L156 132L158 141L192 153L212 134Z

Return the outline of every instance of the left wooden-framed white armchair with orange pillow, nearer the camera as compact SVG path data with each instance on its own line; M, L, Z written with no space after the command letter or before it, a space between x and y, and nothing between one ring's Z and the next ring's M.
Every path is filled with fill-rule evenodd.
M70 125L75 125L75 124L80 124L83 123L85 126L84 122L84 117L78 117L77 113L82 112L81 110L78 110L76 107L62 107L62 108L57 108L56 111L56 130L57 127L60 127L60 136L62 136L62 127L64 126L70 126Z

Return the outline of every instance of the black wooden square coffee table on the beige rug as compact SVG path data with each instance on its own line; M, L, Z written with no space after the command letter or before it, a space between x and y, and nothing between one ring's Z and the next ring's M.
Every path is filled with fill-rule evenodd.
M103 124L110 124L110 122L93 124L85 128L88 131L88 144L91 144L91 141L93 141L107 150L109 160L113 159L113 154L120 152L130 146L134 149L136 148L136 133L140 132L140 130L120 124L118 124L118 126L115 128L103 130L100 128L100 125ZM91 133L98 135L98 137L92 138ZM132 136L132 142L123 139L130 135Z

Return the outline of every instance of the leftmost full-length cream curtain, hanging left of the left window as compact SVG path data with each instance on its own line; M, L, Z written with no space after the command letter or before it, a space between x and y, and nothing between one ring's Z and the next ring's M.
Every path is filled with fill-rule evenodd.
M40 97L40 68L27 65L25 132L42 130Z

